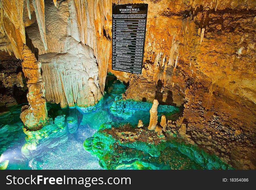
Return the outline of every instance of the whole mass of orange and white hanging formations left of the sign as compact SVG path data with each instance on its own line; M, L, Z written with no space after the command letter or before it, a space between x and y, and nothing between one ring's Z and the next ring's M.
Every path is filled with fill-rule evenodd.
M106 7L110 6L94 0L0 1L0 49L14 52L26 64L22 55L26 44L36 58L40 55L44 63L42 73L45 85L39 75L25 74L28 69L23 67L30 87L30 106L32 101L37 102L35 105L40 104L35 110L23 109L22 121L28 128L33 128L36 122L44 122L47 117L45 105L41 106L45 104L42 100L44 89L47 101L61 103L62 107L93 106L102 98L110 54L109 32L104 30L104 25L110 26L108 21L105 23L105 17L110 17ZM35 82L37 78L40 81ZM32 97L30 92L34 91L37 95ZM35 116L38 118L35 119Z

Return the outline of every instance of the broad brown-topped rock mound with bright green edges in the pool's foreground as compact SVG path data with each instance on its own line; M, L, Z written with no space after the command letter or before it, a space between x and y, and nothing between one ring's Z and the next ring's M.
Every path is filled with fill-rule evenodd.
M208 155L170 130L154 131L129 124L106 123L84 141L84 149L99 159L104 169L232 169L216 155Z

